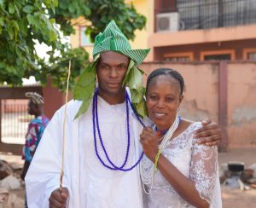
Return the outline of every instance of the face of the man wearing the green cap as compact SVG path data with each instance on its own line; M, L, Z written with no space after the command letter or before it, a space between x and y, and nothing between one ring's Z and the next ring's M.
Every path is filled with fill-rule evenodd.
M119 96L124 90L123 80L129 65L129 58L117 52L108 51L101 54L97 66L99 90L103 96Z

